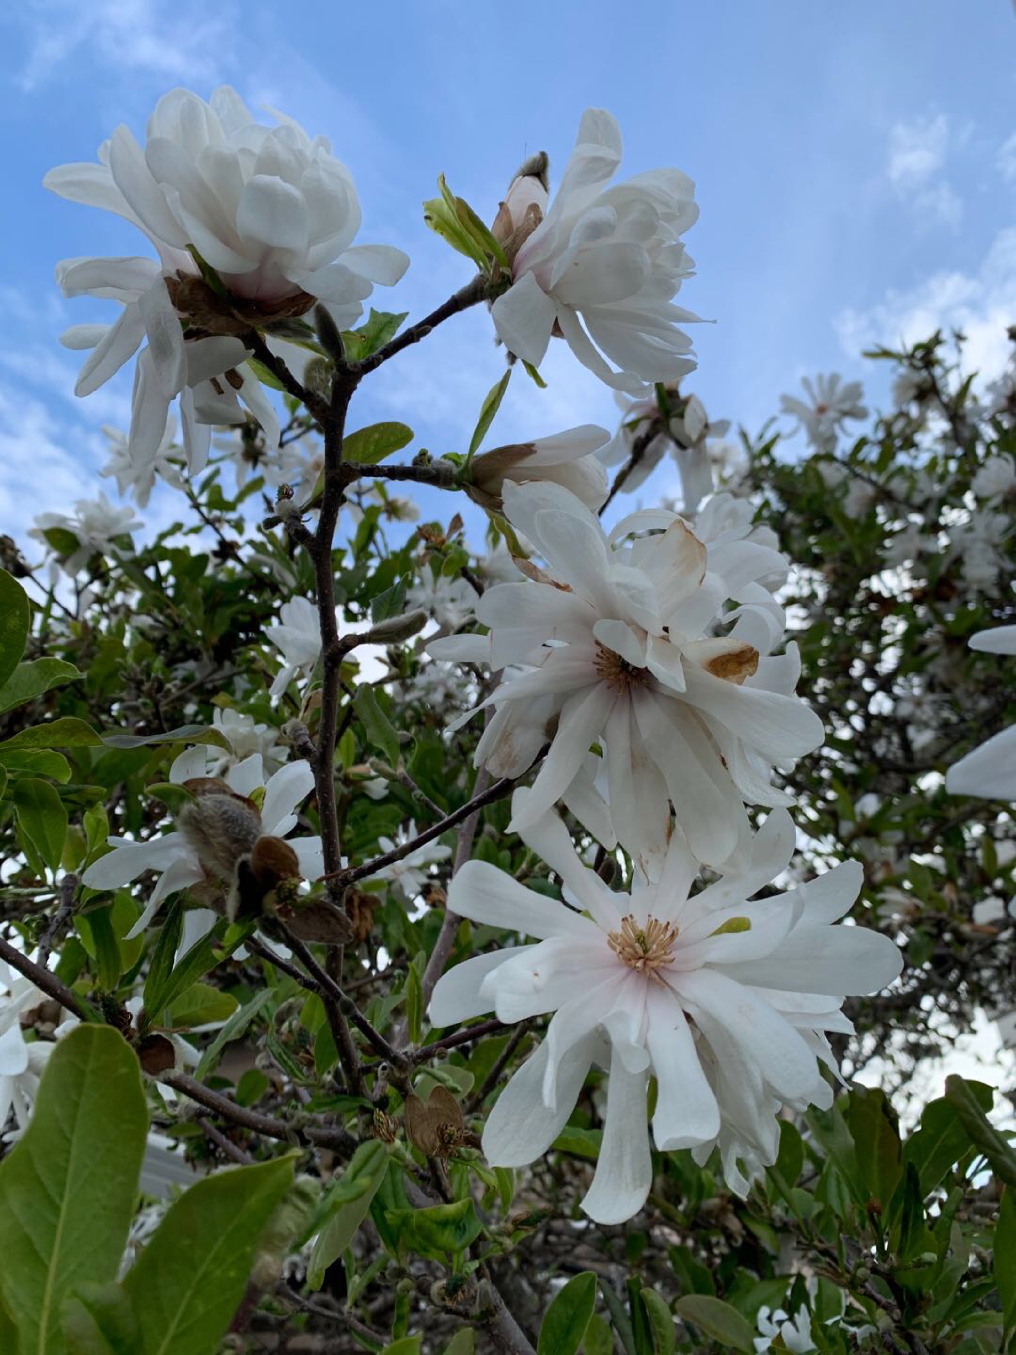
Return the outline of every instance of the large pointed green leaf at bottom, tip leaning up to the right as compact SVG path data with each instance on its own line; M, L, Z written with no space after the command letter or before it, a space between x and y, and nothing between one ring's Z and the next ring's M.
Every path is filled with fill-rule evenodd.
M123 1287L137 1355L213 1355L240 1305L261 1230L293 1184L293 1157L230 1167L171 1205Z

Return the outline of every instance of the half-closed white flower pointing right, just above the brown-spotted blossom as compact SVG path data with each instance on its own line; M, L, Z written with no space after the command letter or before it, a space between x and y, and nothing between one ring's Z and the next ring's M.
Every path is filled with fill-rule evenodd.
M596 512L607 497L607 473L595 453L610 440L611 435L606 428L583 424L551 438L493 447L473 458L466 493L481 508L500 512L505 480L519 485L532 480L553 480L570 489Z

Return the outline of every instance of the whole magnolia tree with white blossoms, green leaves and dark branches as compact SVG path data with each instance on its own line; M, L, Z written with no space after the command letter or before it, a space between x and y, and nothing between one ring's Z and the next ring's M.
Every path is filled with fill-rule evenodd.
M408 260L275 119L177 89L46 179L146 236L58 266L122 308L64 343L135 359L106 474L180 520L4 543L3 1348L1007 1347L994 1092L906 1080L1016 1008L1016 378L936 335L726 442L694 186L596 110L490 228L442 180L475 275L364 321ZM484 302L471 446L400 461L358 389ZM481 451L554 339L616 435Z

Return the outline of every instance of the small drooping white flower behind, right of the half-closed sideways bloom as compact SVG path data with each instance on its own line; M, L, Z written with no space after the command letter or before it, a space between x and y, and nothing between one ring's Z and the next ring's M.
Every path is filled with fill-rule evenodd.
M600 459L606 466L620 466L638 451L638 461L620 486L623 493L631 493L671 451L681 477L681 511L694 514L713 491L714 455L710 442L726 436L730 421L721 419L710 423L698 396L685 398L677 386L666 389L666 400L669 417L664 419L656 394L633 401L618 396L622 408L620 427L610 446L600 451ZM653 436L654 421L658 421L658 431Z

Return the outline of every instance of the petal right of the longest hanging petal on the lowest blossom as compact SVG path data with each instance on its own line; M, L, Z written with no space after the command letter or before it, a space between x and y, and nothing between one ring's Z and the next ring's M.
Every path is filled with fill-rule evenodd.
M648 993L646 1045L656 1073L653 1138L661 1153L704 1144L719 1133L719 1107L702 1070L681 1004L669 988Z

